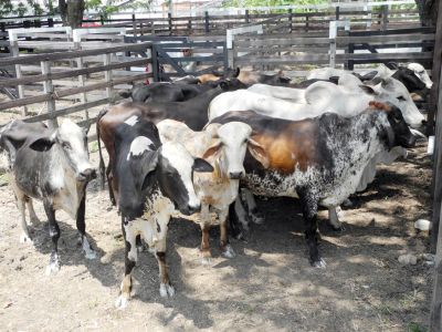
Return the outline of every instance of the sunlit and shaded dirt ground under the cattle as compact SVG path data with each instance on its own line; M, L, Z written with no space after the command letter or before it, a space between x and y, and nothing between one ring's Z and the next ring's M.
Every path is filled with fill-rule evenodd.
M379 167L368 190L352 198L333 231L320 211L323 258L307 259L296 201L260 200L263 225L246 241L232 240L225 259L211 232L213 259L200 263L199 227L177 219L168 236L168 264L177 294L159 295L158 268L149 252L135 269L135 295L114 308L124 271L124 243L115 208L97 181L88 187L86 226L99 258L86 260L74 220L57 212L62 269L45 276L50 238L45 222L31 226L34 245L19 243L19 211L9 186L0 188L0 330L2 331L424 331L433 269L419 260L401 266L404 252L428 252L429 239L413 222L430 217L431 162L427 144L407 160ZM97 153L92 154L97 164ZM42 205L35 204L41 220Z

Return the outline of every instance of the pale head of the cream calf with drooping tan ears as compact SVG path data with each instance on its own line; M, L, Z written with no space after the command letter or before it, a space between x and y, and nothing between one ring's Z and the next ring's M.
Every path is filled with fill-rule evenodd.
M210 124L206 131L218 126L214 144L209 147L203 158L215 158L222 172L221 176L239 179L245 175L244 157L245 151L260 160L264 167L269 167L267 155L263 147L251 138L252 127L242 122L230 122L223 125Z

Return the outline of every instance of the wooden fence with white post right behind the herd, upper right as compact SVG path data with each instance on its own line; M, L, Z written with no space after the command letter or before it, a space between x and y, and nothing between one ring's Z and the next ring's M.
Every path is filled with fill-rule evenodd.
M263 69L304 64L344 65L420 62L431 68L434 29L417 28L373 32L240 34L233 40L231 66ZM423 49L422 49L423 48ZM398 50L402 49L402 51ZM422 51L423 50L423 51Z

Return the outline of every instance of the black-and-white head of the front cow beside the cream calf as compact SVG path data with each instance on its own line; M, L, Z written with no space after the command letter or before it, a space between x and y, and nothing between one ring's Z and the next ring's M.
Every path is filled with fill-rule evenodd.
M201 158L193 158L176 142L166 142L159 148L157 175L161 193L168 197L183 215L200 210L201 203L193 188L193 172L210 173L213 167Z

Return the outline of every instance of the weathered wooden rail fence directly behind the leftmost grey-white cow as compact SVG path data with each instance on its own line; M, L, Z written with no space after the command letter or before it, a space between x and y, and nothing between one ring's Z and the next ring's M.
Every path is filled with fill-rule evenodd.
M71 50L64 52L43 53L27 56L12 56L0 60L0 68L22 66L30 64L40 64L41 73L34 75L21 75L15 79L0 80L0 87L29 86L30 84L41 84L43 91L36 95L23 95L19 100L0 102L0 111L13 107L22 107L36 103L46 103L46 112L35 116L27 117L29 122L49 120L56 125L56 117L84 111L83 125L88 125L96 117L90 116L88 110L113 103L118 100L114 87L116 85L127 84L136 81L151 77L151 73L127 72L127 75L115 77L115 70L127 68L144 68L151 59L126 56L125 52L148 53L150 43L125 44L113 48L99 48L94 50ZM98 62L101 61L101 63ZM72 68L72 62L75 63ZM85 63L91 65L87 68ZM54 71L54 64L63 68L62 71ZM62 66L64 64L64 66ZM60 80L75 80L72 87L59 89ZM105 90L103 93L91 95L92 92ZM23 91L24 94L24 91ZM67 96L76 96L75 103L71 106L57 107L57 102L65 101ZM72 101L69 101L72 104ZM25 115L25 114L23 114Z

